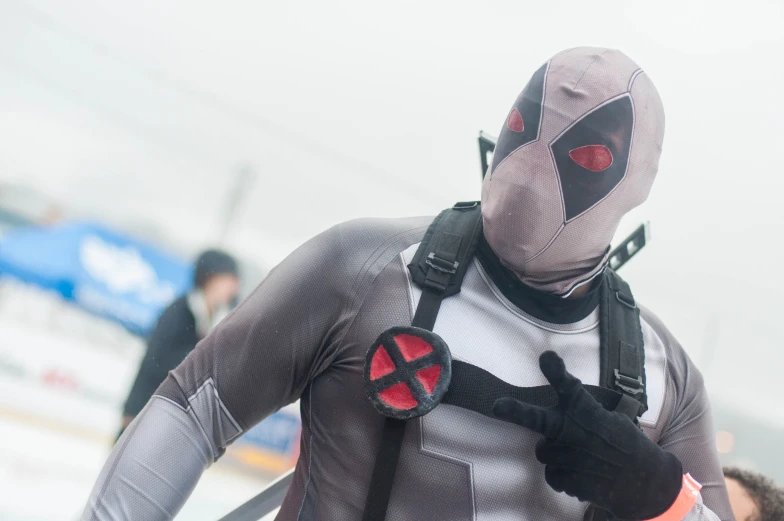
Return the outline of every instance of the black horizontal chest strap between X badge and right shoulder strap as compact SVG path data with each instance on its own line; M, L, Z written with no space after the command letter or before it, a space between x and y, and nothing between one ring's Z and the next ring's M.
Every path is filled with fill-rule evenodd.
M602 407L616 410L622 394L595 385L585 385L585 390ZM441 403L455 405L495 418L493 404L499 398L514 398L539 407L555 407L558 395L550 385L517 387L484 369L460 360L452 360L452 381Z

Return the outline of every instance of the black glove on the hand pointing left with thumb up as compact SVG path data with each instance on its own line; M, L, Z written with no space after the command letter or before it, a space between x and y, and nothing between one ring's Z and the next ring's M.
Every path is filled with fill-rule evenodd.
M539 357L558 406L545 409L501 398L493 413L544 435L536 459L557 492L588 501L621 519L659 516L681 490L683 468L625 415L607 411L566 371L552 351Z

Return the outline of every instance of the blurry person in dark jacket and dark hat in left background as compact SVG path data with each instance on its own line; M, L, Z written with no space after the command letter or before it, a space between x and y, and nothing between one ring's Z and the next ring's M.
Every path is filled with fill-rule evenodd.
M207 250L196 260L193 284L193 290L163 311L147 340L147 352L123 407L118 439L169 371L226 315L239 291L237 262L227 253Z

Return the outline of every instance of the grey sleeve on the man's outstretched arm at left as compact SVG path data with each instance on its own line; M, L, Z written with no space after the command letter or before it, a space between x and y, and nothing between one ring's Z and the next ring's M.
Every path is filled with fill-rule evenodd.
M373 279L429 219L361 220L311 239L166 378L112 451L83 521L168 521L242 432L340 350Z

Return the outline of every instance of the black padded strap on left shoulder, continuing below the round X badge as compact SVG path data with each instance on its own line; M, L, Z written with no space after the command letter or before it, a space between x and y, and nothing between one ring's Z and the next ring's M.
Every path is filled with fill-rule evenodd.
M481 234L481 217L478 203L457 203L428 228L409 265L414 282L422 288L412 326L432 331L441 301L460 291ZM362 521L386 518L405 433L405 420L386 418Z

